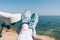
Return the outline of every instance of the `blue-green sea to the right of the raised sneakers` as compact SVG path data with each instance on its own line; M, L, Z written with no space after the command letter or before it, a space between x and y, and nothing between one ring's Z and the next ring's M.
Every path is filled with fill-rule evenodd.
M60 38L60 16L39 16L37 34Z

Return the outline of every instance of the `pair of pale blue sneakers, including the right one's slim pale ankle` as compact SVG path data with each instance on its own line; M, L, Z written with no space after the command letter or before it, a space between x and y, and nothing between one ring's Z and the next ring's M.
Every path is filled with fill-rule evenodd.
M22 23L29 23L29 28L32 29L33 33L32 36L36 36L36 25L38 23L38 15L36 13L31 13L30 11L25 11L22 14Z

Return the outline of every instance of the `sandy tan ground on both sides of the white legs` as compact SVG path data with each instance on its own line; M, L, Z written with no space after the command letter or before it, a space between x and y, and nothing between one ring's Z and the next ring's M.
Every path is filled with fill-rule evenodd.
M3 30L2 32L2 37L0 40L17 40L18 34L13 31L6 31L6 29ZM49 36L44 36L44 35L37 35L35 40L55 40L54 38L51 38Z

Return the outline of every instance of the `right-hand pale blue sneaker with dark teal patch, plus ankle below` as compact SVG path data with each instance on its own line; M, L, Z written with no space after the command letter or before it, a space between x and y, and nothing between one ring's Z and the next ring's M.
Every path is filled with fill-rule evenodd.
M35 39L35 37L36 37L36 29L35 28L36 28L37 23L38 23L38 15L36 13L32 13L31 21L30 21L29 25L33 31L33 33L32 33L33 39Z

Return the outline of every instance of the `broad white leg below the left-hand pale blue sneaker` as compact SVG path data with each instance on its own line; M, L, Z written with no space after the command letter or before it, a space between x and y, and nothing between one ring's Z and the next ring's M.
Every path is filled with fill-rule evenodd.
M21 32L19 33L18 40L33 40L32 29L29 29L29 25L26 23L22 24Z

